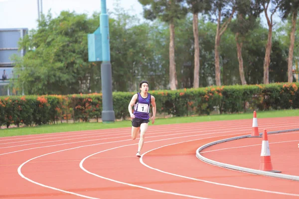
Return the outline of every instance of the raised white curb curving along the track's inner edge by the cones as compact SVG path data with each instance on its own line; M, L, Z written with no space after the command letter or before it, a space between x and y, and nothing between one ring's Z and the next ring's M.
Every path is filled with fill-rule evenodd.
M268 134L290 132L290 131L299 131L299 128L288 129L288 130L280 130L280 131L271 131L271 132L268 132ZM260 135L263 135L263 133L260 133ZM256 170L256 169L250 169L250 168L246 168L246 167L239 167L239 166L235 166L235 165L225 164L225 163L221 163L221 162L217 162L217 161L205 158L205 157L203 157L200 154L201 150L203 150L204 148L207 148L207 147L209 147L211 145L219 144L219 143L227 142L227 141L231 141L231 140L236 140L236 139L247 138L247 137L251 137L251 135L237 136L237 137L232 137L232 138L227 138L227 139L223 139L223 140L218 140L218 141L210 142L208 144L205 144L205 145L199 147L196 150L196 157L198 159L204 161L204 162L207 162L207 163L210 163L212 165L219 166L219 167L224 167L224 168L239 170L239 171L253 173L253 174L258 174L258 175L271 176L271 177L276 177L276 178L283 178L283 179L288 179L288 180L299 181L299 176L292 176L292 175L280 174L280 173L272 173L272 172L268 172L268 171L262 171L262 170Z

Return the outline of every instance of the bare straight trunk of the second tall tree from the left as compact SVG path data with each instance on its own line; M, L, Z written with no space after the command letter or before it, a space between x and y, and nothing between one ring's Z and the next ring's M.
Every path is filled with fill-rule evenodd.
M194 36L194 78L193 88L199 87L199 41L198 41L198 13L193 13L193 36Z

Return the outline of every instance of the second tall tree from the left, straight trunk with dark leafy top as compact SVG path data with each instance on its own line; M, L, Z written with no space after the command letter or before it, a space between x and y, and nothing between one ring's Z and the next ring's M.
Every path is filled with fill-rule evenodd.
M198 13L207 12L211 9L208 0L187 0L190 5L190 10L193 14L193 37L194 37L194 78L193 78L193 88L199 87L199 39L198 39Z

